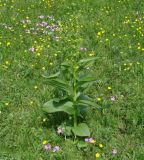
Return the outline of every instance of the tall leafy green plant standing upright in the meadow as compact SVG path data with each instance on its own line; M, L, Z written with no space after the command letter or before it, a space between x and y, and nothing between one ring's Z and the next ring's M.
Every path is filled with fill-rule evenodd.
M89 127L86 123L78 123L78 117L82 117L88 106L96 107L96 103L83 94L85 89L96 82L96 77L88 73L88 67L96 59L95 57L81 59L78 62L64 62L59 72L47 77L48 84L58 89L60 98L49 100L43 109L48 113L66 112L73 116L73 127L68 128L75 136L90 136Z

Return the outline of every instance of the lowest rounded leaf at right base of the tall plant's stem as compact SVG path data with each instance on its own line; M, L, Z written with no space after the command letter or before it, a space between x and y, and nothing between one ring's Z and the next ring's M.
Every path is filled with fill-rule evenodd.
M77 136L81 137L89 137L90 136L90 129L85 123L80 123L77 127L72 129L73 133Z

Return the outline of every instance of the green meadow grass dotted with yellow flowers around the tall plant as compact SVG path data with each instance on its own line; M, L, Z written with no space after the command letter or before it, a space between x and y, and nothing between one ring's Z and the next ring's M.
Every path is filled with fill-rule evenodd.
M144 2L135 0L0 1L0 160L94 160L96 152L101 160L144 159L143 10ZM33 31L42 21L59 30ZM88 94L103 110L89 109L97 143L80 150L56 133L65 115L42 111L55 95L42 75L55 73L64 60L91 56L99 57L92 69L99 83ZM44 151L43 140L61 151Z

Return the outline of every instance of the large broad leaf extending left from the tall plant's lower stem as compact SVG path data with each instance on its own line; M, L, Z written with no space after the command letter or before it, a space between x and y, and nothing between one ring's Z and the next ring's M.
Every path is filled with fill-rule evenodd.
M48 113L66 112L70 115L74 114L74 107L71 101L55 102L54 100L50 100L44 104L43 110Z

